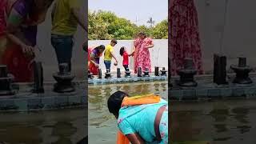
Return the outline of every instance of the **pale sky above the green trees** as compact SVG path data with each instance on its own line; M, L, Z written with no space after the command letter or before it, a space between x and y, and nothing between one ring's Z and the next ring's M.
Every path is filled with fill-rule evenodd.
M150 17L155 24L168 17L168 0L89 0L88 6L92 11L110 10L138 26L150 26L146 23Z

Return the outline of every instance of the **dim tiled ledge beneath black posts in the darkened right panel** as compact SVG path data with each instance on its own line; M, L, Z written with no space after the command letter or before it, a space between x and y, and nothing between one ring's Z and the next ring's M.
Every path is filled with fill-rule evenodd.
M212 83L212 75L198 77L198 86L180 87L176 85L177 78L172 79L173 87L169 88L170 101L202 100L215 98L256 98L256 77L251 79L254 83L239 85L232 83L233 75L228 78L229 85L217 85Z

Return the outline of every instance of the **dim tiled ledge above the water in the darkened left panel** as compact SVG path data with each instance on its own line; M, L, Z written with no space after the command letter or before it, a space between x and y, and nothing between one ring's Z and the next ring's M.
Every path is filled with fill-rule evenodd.
M86 106L85 82L75 83L76 91L72 93L55 93L52 86L45 85L44 94L33 94L30 92L30 85L20 85L16 94L0 97L0 111L54 110Z

